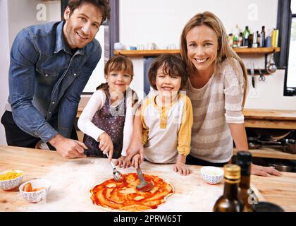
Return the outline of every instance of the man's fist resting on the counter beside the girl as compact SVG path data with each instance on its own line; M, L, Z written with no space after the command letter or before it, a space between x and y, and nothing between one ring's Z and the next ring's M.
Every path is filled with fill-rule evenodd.
M54 138L51 138L49 143L56 148L56 151L61 155L61 157L86 157L84 152L87 149L87 146L80 141L65 138L58 134L54 136Z

